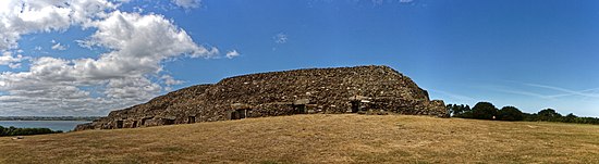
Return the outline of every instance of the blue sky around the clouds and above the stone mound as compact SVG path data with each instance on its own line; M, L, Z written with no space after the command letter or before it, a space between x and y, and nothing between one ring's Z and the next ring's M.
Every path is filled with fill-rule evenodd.
M552 108L562 114L599 116L599 66L596 64L599 61L599 47L596 46L599 42L599 11L596 10L599 7L598 1L110 2L118 5L103 9L107 14L137 14L132 15L131 20L125 18L131 22L135 22L136 17L158 15L156 20L166 20L157 21L158 23L172 25L166 25L164 28L185 31L184 35L191 37L193 42L190 47L166 51L175 54L156 54L154 58L163 59L150 60L150 63L158 63L147 70L132 68L131 73L138 75L135 79L117 79L106 73L102 76L89 76L100 79L87 80L83 73L90 72L86 70L81 71L81 76L86 78L71 84L75 89L64 86L64 83L50 85L58 88L57 90L81 92L86 100L101 99L102 103L98 105L112 102L109 98L129 98L124 92L145 97L111 108L135 104L170 90L217 83L224 77L248 73L376 64L389 65L404 73L427 89L432 99L441 99L445 103L474 105L478 101L490 101L498 108L514 105L525 112ZM93 15L88 20L103 23L108 18ZM101 25L114 24L107 21ZM37 61L37 65L41 65L39 63L44 62L39 62L42 61L39 59L45 56L68 61L63 66L72 68L64 72L80 75L76 70L85 64L74 66L77 64L69 64L69 61L91 59L99 67L96 71L101 72L101 66L98 65L102 64L102 60L99 60L102 55L112 52L115 53L114 56L129 55L121 52L131 47L110 45L113 40L106 39L107 35L94 35L105 30L101 25L82 21L57 26L57 29L19 31L16 46L5 46L3 52L10 52L12 59L22 54L22 59L19 62L4 62L7 64L3 65L0 60L4 84L10 84L8 78L25 76L14 75L17 73L35 74L34 71L41 66L34 67L33 63ZM131 28L139 31L143 29L149 28ZM91 48L82 43L85 41L90 41ZM178 45L190 43L185 39L175 41L181 41ZM64 50L58 47L51 49L57 43ZM210 52L215 49L218 49L218 53ZM236 53L230 53L233 51ZM232 55L228 58L228 53ZM50 61L56 63L56 60ZM14 65L19 63L20 66ZM8 73L13 75L9 76ZM30 75L25 79L29 78L36 77ZM80 81L80 77L72 78ZM171 79L170 83L167 79ZM40 83L33 85L44 86ZM15 91L23 87L7 86L10 85L4 85L2 90L0 85L0 97L5 97L7 102L17 101L16 97L28 96L23 92L36 92L36 89ZM147 92L139 93L131 90L111 91L113 88L110 86L131 87L132 90L135 87L152 87ZM42 87L38 89L47 90ZM61 91L56 93L60 94ZM81 101L66 101L66 98L63 102L65 103L58 104L56 110L50 111L35 106L0 105L0 115L103 115L111 110L76 108L81 105L77 103ZM61 110L64 105L70 110Z

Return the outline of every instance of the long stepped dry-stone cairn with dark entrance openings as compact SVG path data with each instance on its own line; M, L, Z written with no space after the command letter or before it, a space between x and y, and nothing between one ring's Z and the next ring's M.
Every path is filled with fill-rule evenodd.
M75 130L314 113L449 115L443 101L430 101L409 77L389 66L371 65L229 77L110 112Z

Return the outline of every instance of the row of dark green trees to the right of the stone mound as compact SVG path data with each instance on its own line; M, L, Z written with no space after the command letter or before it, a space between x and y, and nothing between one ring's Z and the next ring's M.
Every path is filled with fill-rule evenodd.
M562 116L553 109L545 109L538 113L524 113L515 106L497 109L490 102L478 102L470 109L464 104L448 104L448 110L453 117L494 119L494 121L526 121L526 122L563 122L579 124L599 124L596 117L578 117L573 113Z

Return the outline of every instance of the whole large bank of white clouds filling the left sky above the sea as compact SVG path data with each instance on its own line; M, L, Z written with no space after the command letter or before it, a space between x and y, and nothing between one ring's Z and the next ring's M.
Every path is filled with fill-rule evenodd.
M182 84L163 75L163 63L170 59L209 59L219 53L216 47L196 43L172 20L156 13L122 12L117 2L0 1L0 65L19 67L23 60L30 61L25 71L0 73L0 115L103 115ZM107 51L78 59L12 53L22 35L73 26L94 30L86 39L73 41ZM51 49L66 49L58 41L52 43Z

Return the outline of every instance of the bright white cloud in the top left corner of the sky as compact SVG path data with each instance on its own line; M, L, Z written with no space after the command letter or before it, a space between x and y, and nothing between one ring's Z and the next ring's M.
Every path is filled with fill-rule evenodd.
M16 49L22 35L65 30L85 24L117 5L107 0L2 0L0 50Z

